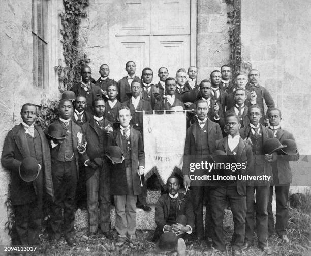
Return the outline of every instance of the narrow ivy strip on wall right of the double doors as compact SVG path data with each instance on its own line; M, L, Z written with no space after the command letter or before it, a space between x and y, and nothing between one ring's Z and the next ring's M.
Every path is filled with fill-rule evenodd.
M241 69L241 1L226 0L227 5L232 6L232 11L227 13L229 28L229 44L231 47L230 66L233 76Z

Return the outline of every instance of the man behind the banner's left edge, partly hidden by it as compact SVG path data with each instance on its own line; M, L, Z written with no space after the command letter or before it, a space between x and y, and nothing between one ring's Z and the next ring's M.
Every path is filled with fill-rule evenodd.
M137 111L151 111L151 105L150 102L140 98L141 93L141 84L139 82L133 81L132 86L132 97L125 103L123 103L123 106L127 106L131 111L131 124L132 127L135 130L138 130L142 136L142 139L144 137L144 127L143 127L143 113L142 112L135 112ZM143 188L142 193L138 195L137 200L137 207L143 209L144 211L151 211L151 208L147 206L147 188L144 184L144 176L142 176L143 180Z

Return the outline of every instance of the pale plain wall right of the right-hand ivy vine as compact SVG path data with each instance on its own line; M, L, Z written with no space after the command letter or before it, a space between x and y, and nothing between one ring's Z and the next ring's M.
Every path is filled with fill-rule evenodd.
M308 0L242 0L242 61L260 71L260 84L282 110L282 124L300 151L293 184L311 185L311 5ZM243 68L242 63L242 68ZM247 65L246 65L247 66Z

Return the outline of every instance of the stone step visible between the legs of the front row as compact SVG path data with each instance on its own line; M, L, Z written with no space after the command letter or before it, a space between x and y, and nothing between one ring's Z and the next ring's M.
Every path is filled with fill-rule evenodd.
M136 224L137 229L139 230L154 230L155 229L155 222L154 222L154 212L155 212L155 205L149 205L151 207L150 212L145 212L142 209L137 208L136 213ZM115 208L114 206L110 206L110 219L111 219L111 227L115 227ZM203 219L205 223L205 207L203 207ZM232 213L231 210L225 210L225 217L224 217L224 226L232 225ZM87 211L81 211L78 209L75 214L75 227L81 229L84 227L88 227L88 220L87 220Z

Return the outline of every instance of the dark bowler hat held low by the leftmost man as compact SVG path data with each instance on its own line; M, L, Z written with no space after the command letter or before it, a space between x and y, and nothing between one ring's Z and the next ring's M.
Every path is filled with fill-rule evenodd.
M18 173L23 181L34 181L40 172L37 159L33 157L26 157L20 164Z

